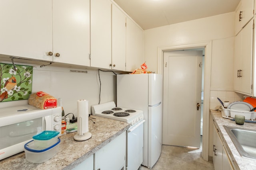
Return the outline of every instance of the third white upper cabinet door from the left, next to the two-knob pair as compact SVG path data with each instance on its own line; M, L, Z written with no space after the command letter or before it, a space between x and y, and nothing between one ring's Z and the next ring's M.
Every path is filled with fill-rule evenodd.
M91 1L91 66L111 69L111 2Z

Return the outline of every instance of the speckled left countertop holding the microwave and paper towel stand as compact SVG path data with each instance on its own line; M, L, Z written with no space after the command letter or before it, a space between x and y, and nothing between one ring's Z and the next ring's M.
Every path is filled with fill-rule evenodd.
M110 143L121 133L126 131L130 124L122 121L106 119L98 116L91 116L95 124L89 120L89 132L92 137L86 141L74 141L73 137L77 132L67 133L60 137L59 152L41 164L28 162L25 153L21 152L0 160L1 170L46 170L46 169L72 169L86 158ZM89 118L90 119L90 118Z

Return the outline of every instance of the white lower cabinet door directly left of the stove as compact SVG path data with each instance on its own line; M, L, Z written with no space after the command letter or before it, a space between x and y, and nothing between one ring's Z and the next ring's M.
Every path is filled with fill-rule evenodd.
M121 170L125 169L126 132L108 143L94 154L94 169Z

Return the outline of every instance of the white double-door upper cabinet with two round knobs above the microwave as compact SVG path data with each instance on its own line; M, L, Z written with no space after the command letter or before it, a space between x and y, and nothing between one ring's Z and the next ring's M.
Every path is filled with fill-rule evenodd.
M0 16L0 54L90 66L90 0L2 0Z

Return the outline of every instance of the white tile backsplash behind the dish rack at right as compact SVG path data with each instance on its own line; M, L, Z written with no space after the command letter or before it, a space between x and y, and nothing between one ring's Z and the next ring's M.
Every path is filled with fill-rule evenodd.
M222 102L229 101L237 102L243 101L245 94L236 93L234 91L210 91L210 109L215 109L217 106L221 106L217 98L220 98Z

